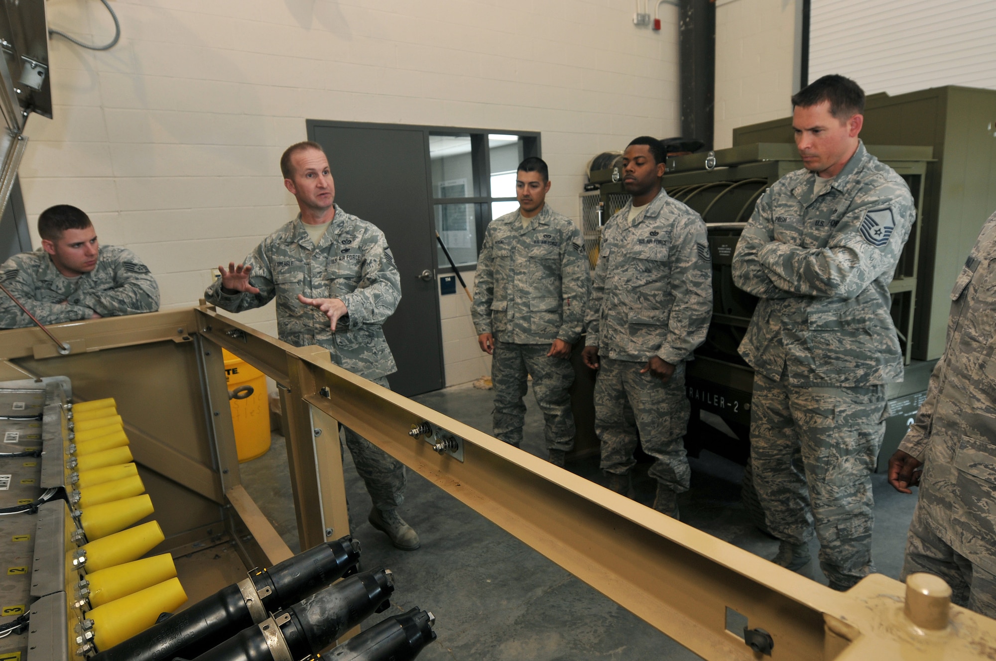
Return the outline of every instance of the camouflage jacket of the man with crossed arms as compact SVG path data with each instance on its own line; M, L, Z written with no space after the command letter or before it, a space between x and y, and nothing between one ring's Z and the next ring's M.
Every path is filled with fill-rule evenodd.
M793 385L902 380L889 316L899 253L915 217L906 183L864 144L821 195L796 170L758 200L733 255L733 282L759 297L740 354Z

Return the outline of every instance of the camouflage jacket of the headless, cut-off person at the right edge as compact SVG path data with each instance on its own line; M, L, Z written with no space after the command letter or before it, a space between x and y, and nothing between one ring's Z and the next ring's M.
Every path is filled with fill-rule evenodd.
M916 507L931 529L996 573L996 214L951 302L944 355L899 449L924 462Z

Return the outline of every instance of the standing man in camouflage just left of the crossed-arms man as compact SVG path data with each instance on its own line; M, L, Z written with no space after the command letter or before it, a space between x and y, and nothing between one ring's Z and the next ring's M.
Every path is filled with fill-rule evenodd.
M609 488L628 491L638 429L655 460L653 508L677 518L677 494L691 477L682 442L690 412L685 361L712 318L712 264L705 223L660 186L665 156L660 141L646 136L622 156L632 199L602 230L584 358L599 370L595 429ZM626 421L626 402L636 429Z

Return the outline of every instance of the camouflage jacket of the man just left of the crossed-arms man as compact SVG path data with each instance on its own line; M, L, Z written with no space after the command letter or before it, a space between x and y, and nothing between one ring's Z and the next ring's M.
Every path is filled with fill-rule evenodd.
M585 343L618 360L657 355L678 365L712 319L705 223L663 190L628 220L627 203L602 230Z

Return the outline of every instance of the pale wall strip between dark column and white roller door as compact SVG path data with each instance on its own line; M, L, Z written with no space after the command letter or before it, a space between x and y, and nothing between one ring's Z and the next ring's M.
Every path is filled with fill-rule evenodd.
M733 129L788 116L799 90L797 0L716 1L717 149Z

